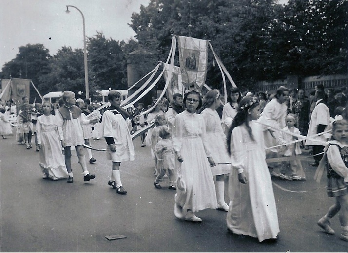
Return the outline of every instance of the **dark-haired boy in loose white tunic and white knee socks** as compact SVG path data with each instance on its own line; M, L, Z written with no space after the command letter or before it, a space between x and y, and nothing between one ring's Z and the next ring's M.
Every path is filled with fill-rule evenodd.
M108 99L111 106L107 108L101 117L102 132L107 143L107 159L112 160L112 170L108 184L116 189L118 194L127 194L121 182L119 166L122 161L134 160L134 147L126 123L126 118L130 115L120 107L122 102L121 92L110 90Z

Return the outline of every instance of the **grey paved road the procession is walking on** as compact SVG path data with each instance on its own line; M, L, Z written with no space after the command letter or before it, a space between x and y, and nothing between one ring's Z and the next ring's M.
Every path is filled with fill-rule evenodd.
M103 140L92 145L103 148ZM155 189L149 147L134 141L136 159L121 164L127 195L107 185L111 163L103 152L89 165L96 179L87 183L73 151L74 183L43 180L35 149L26 150L12 136L0 140L1 252L347 252L348 243L320 231L316 221L334 199L326 196L325 178L313 180L315 169L303 165L307 181L273 179L280 224L276 242L233 235L226 229L226 213L204 210L202 223L174 217L174 191ZM294 191L294 192L290 192ZM297 193L295 191L306 191ZM226 195L227 199L227 195ZM126 239L108 241L106 235Z

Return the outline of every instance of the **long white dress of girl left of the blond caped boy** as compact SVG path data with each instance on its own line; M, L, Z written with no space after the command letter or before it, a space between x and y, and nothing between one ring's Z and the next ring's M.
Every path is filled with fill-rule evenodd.
M38 144L42 145L39 149L39 165L42 172L48 173L51 178L59 179L68 176L60 144L60 141L64 139L63 132L58 127L57 116L39 116L36 123L36 136Z

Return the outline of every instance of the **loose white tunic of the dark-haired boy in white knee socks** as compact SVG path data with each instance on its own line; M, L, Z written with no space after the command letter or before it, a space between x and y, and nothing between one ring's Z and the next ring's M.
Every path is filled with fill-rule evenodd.
M114 112L116 114L114 114ZM104 137L113 137L116 152L107 145L107 159L113 162L133 161L134 147L126 121L116 110L106 110L102 116L101 129Z

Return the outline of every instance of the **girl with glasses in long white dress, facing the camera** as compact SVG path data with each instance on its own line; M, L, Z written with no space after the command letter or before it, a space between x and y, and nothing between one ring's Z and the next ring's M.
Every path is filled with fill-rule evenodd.
M174 150L179 162L174 215L178 219L200 222L194 214L206 208L217 208L215 185L209 164L211 157L204 118L196 113L202 99L196 90L188 90L184 96L185 111L176 115L172 128ZM208 161L207 161L208 158Z

